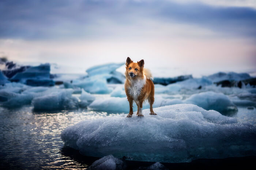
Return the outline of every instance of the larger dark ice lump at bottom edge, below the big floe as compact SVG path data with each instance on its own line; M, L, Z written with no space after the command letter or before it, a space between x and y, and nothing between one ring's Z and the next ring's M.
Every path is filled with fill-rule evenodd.
M122 170L126 169L126 163L119 158L108 155L89 166L88 170Z

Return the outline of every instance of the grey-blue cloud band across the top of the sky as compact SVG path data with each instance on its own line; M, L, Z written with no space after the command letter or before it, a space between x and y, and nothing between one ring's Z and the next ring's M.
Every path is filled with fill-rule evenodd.
M1 39L104 39L152 36L156 27L187 24L220 36L256 38L256 10L176 1L33 0L0 2Z

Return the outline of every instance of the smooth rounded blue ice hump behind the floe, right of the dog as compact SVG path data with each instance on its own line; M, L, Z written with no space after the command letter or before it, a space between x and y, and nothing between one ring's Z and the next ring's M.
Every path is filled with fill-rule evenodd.
M212 91L193 94L188 99L184 100L184 102L196 104L206 110L216 110L221 113L237 111L237 107L226 95Z

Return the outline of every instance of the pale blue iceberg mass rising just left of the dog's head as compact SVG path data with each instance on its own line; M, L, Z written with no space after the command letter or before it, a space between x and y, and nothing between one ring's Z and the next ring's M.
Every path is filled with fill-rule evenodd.
M125 76L116 71L122 65L124 63L91 67L86 70L88 74L86 78L73 80L72 83L66 82L65 86L68 88L83 88L86 92L93 94L109 94L112 89L108 87L108 83L124 83L125 81Z

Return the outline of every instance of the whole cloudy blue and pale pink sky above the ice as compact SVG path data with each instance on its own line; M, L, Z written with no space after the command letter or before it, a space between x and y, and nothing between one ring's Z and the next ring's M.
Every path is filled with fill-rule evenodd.
M0 56L54 72L128 56L155 76L256 72L255 28L255 0L0 0Z

